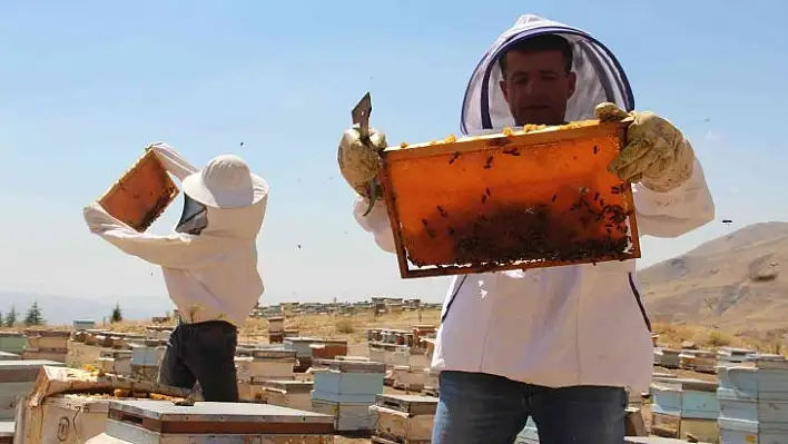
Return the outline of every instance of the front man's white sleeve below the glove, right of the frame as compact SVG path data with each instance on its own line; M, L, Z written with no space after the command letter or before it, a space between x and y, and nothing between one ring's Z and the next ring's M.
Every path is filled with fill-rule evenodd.
M692 176L679 188L657 193L636 184L633 195L641 236L679 237L715 219L715 203L698 159Z

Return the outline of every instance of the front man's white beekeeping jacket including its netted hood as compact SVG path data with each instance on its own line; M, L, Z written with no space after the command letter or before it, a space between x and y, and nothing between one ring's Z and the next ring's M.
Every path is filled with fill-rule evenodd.
M514 121L499 88L499 56L516 41L558 33L573 47L578 89L568 121L594 118L610 101L632 110L627 77L614 56L589 33L523 16L487 50L471 77L462 109L465 135L500 130ZM668 193L633 186L641 235L677 237L713 219L700 165L688 182ZM377 245L394 251L384 204L356 219ZM487 373L560 387L620 386L648 391L652 373L650 323L634 278L634 260L454 277L446 293L432 366Z

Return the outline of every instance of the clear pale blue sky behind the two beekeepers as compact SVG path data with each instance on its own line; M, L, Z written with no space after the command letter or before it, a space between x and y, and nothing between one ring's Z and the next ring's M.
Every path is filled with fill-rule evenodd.
M81 216L146 144L164 140L196 165L236 152L269 180L265 303L441 300L445 279L401 280L395 257L355 225L338 137L366 90L391 142L459 132L471 71L523 13L600 38L627 69L638 108L674 121L703 162L718 220L647 239L641 265L747 224L788 220L788 38L778 32L788 2L723 4L2 2L0 290L166 297L156 267L90 235ZM154 233L168 231L179 208Z

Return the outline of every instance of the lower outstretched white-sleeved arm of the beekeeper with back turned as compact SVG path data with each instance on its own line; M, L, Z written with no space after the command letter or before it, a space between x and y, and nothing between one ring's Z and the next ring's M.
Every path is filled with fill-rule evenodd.
M128 255L167 268L194 269L211 259L213 239L187 234L156 236L138 233L110 216L99 204L82 210L90 233L101 236Z

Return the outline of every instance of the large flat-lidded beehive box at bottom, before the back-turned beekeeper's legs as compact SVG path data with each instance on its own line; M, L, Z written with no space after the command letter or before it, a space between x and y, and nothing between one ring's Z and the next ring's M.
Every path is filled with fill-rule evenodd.
M333 435L329 416L274 405L198 402L177 406L166 401L114 401L106 433L86 444L329 444Z

